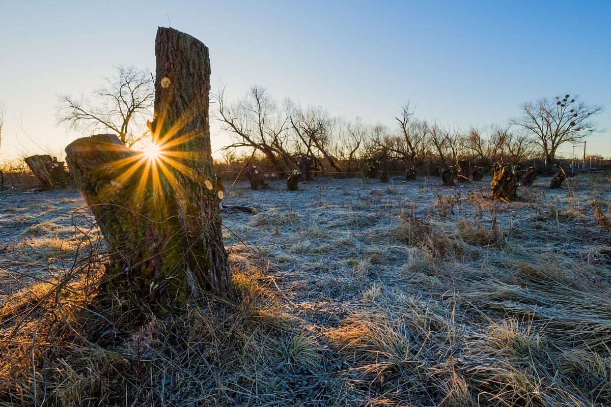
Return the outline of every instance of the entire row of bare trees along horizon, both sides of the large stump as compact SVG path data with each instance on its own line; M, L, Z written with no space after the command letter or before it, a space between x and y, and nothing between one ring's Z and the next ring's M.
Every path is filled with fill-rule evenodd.
M85 134L110 129L128 146L150 134L144 123L153 115L152 77L133 66L116 68L117 74L90 97L58 95L57 124ZM458 159L481 167L530 158L552 165L560 146L601 131L592 118L602 111L602 106L567 94L526 102L521 115L506 124L461 128L416 118L407 103L395 117L396 126L389 128L332 117L322 107L304 107L288 98L279 103L257 85L235 101L227 100L221 86L213 102L221 130L232 137L222 149L227 162L256 157L269 170L291 171L307 160L316 170L348 175L371 160L396 169L448 168Z

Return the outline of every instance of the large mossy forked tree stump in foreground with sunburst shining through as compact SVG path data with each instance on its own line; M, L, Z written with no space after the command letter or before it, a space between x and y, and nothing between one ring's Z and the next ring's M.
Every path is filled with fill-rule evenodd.
M109 134L78 139L66 153L108 243L109 286L163 310L203 291L225 292L231 280L210 148L208 48L159 27L155 56L159 154Z

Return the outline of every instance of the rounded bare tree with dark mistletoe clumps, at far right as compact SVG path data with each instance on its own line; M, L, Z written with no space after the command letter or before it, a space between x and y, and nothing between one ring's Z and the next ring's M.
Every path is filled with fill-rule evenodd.
M588 135L601 131L591 116L602 112L603 107L579 100L579 95L540 98L521 105L522 115L511 123L525 129L543 148L545 164L552 165L558 147L564 143L576 143Z

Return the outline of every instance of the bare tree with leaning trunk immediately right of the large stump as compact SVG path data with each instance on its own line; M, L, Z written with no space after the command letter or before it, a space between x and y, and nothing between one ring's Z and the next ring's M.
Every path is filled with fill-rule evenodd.
M234 103L227 102L224 90L221 85L214 95L219 106L216 120L233 139L224 149L254 148L276 171L295 165L288 153L289 110L280 109L265 87L252 85L246 96Z

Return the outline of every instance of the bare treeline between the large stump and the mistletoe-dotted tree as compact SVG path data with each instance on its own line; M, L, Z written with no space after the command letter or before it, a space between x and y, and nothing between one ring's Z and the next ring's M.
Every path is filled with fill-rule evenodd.
M461 159L490 168L496 162L520 164L538 152L528 135L509 124L458 128L414 117L409 103L395 117L396 126L389 128L332 117L326 109L302 107L290 99L277 103L257 85L232 103L221 90L216 102L216 118L232 137L232 144L222 149L219 164L224 167L256 164L285 172L305 162L316 171L350 176L373 161L386 171L449 168Z

